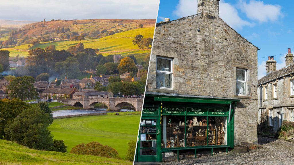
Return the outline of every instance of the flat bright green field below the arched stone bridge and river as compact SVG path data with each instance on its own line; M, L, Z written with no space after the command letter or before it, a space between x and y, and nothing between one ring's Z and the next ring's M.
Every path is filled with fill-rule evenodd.
M124 159L128 142L136 140L140 115L114 114L54 119L49 130L54 139L64 140L68 152L77 144L96 141L113 147Z

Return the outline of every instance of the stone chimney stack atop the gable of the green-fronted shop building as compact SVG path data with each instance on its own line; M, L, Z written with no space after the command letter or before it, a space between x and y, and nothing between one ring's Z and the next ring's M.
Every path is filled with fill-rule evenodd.
M218 19L219 14L219 1L220 0L198 0L198 13L206 13L207 17Z

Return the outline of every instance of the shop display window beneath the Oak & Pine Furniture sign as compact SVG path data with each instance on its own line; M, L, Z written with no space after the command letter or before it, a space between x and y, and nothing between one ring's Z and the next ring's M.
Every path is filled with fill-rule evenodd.
M185 117L164 116L162 148L185 147Z

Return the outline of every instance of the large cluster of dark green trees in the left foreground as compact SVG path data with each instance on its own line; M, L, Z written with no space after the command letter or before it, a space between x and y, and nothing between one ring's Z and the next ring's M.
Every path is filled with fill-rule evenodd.
M48 127L53 122L47 103L31 106L13 98L0 100L0 139L32 149L66 152L63 140L53 140Z

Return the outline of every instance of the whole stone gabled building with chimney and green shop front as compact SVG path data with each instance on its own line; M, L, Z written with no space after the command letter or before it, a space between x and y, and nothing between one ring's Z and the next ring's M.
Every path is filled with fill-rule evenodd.
M219 18L218 4L198 0L198 14L156 25L136 161L258 143L258 48Z

